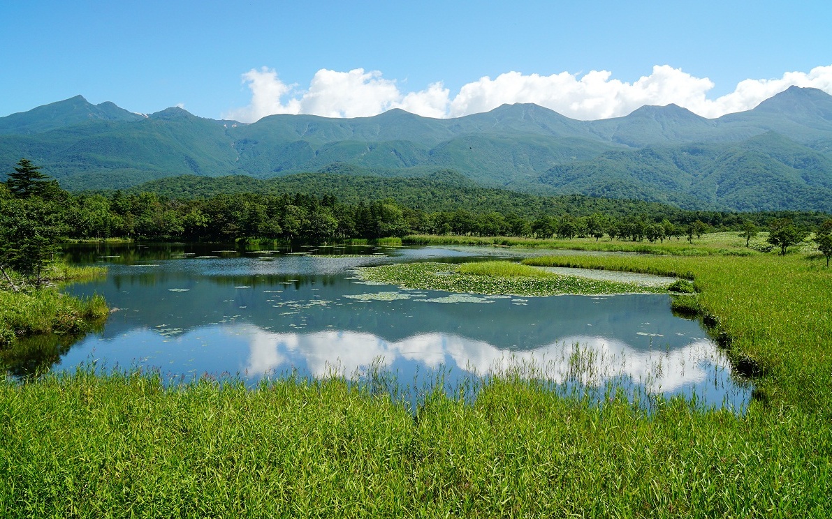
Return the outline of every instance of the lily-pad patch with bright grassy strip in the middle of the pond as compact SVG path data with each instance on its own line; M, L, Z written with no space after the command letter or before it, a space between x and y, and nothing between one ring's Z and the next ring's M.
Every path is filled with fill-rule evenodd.
M666 287L642 286L587 277L562 276L513 262L396 263L356 269L365 282L403 288L511 296L664 293Z

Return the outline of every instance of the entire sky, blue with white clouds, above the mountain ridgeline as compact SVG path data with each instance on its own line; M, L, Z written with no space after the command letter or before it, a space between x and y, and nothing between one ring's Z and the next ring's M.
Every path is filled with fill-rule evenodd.
M82 94L240 120L453 116L518 101L580 119L668 102L717 116L789 84L832 93L830 20L828 0L7 0L0 115Z

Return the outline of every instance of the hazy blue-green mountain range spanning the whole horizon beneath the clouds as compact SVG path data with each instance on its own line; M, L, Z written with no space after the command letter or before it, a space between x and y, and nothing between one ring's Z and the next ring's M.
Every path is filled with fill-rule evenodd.
M77 95L0 118L0 164L11 171L22 157L72 190L125 189L181 174L453 170L483 186L533 193L832 213L832 96L793 86L718 119L666 105L583 121L516 104L455 119L389 110L242 124L181 108L136 114Z

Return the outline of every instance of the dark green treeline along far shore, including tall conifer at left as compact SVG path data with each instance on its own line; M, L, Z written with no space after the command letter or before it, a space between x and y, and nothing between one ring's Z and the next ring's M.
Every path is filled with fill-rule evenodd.
M545 203L538 201L537 213L530 213L525 205L506 208L503 203L496 202L493 206L502 210L489 210L489 192L495 192L494 197L503 197L498 198L501 202L511 196L499 189L466 192L477 198L479 210L466 208L467 204L460 201L461 207L436 211L409 207L394 198L367 201L359 198L345 202L329 193L230 193L201 198L121 191L72 194L58 188L28 161L25 164L21 161L18 166L18 173L20 170L27 173L17 174L13 179L10 176L7 184L0 184L0 213L6 225L14 228L37 228L34 223L39 223L42 228L45 226L38 236L47 241L57 237L127 237L193 241L270 238L323 242L428 233L596 239L610 236L655 242L674 237L677 240L681 237L692 239L713 230L739 231L749 223L766 228L782 218L790 218L796 226L808 231L828 218L822 213L684 211L656 203L623 201L617 204L615 200L581 195L557 197L557 209L547 208ZM27 179L22 179L26 175ZM434 190L441 191L438 179L431 183ZM453 188L448 187L445 191L442 196L454 196ZM405 195L413 196L412 193ZM522 197L535 199L532 195ZM521 199L517 201L522 202ZM622 214L621 206L627 203L631 204L631 212Z

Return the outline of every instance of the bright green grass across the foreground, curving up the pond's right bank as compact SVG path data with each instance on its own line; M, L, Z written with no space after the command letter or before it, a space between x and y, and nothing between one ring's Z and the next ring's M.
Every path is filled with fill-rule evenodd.
M506 377L412 413L344 380L153 375L0 384L7 517L828 517L832 271L785 257L550 257L690 273L747 412L653 412Z

